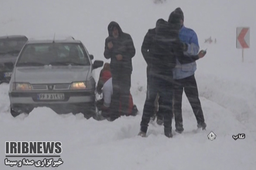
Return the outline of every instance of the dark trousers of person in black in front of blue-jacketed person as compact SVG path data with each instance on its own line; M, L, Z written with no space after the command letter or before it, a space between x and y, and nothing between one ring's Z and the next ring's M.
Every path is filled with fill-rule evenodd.
M148 124L150 118L154 115L154 102L157 94L162 96L162 111L164 116L164 131L165 134L171 132L172 127L172 95L173 95L173 82L169 79L159 78L155 76L150 76L150 81L148 82L148 89L146 94L146 101L143 108L142 121L140 123L140 130L145 132L148 130Z

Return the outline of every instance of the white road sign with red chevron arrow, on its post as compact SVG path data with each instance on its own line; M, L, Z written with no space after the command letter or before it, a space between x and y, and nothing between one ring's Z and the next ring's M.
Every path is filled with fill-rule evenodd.
M244 49L250 48L250 27L236 28L236 48L242 49L242 62L244 62Z

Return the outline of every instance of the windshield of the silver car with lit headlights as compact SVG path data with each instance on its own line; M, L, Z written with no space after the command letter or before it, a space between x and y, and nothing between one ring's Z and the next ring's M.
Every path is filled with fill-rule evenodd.
M16 66L89 66L89 57L81 44L28 44Z

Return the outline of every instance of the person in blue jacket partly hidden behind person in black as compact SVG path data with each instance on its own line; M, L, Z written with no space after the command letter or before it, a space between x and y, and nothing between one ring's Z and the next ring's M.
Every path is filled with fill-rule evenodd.
M180 40L186 43L187 49L184 51L184 55L194 56L199 51L199 44L197 34L193 29L184 26L184 15L180 7L176 8L175 11L181 16L181 29L180 29ZM174 83L174 119L176 132L183 132L183 120L182 120L182 94L183 90L191 104L194 115L197 120L197 127L205 129L206 123L204 122L204 115L202 111L201 102L198 97L198 88L194 73L196 71L196 61L188 64L181 64L178 60L176 61L176 67L173 71L175 79Z

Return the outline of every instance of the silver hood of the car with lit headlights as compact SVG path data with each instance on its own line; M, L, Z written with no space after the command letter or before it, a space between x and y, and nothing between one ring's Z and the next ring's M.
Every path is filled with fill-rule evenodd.
M89 75L88 75L89 72ZM85 81L90 66L16 67L15 82L31 84L71 83Z

